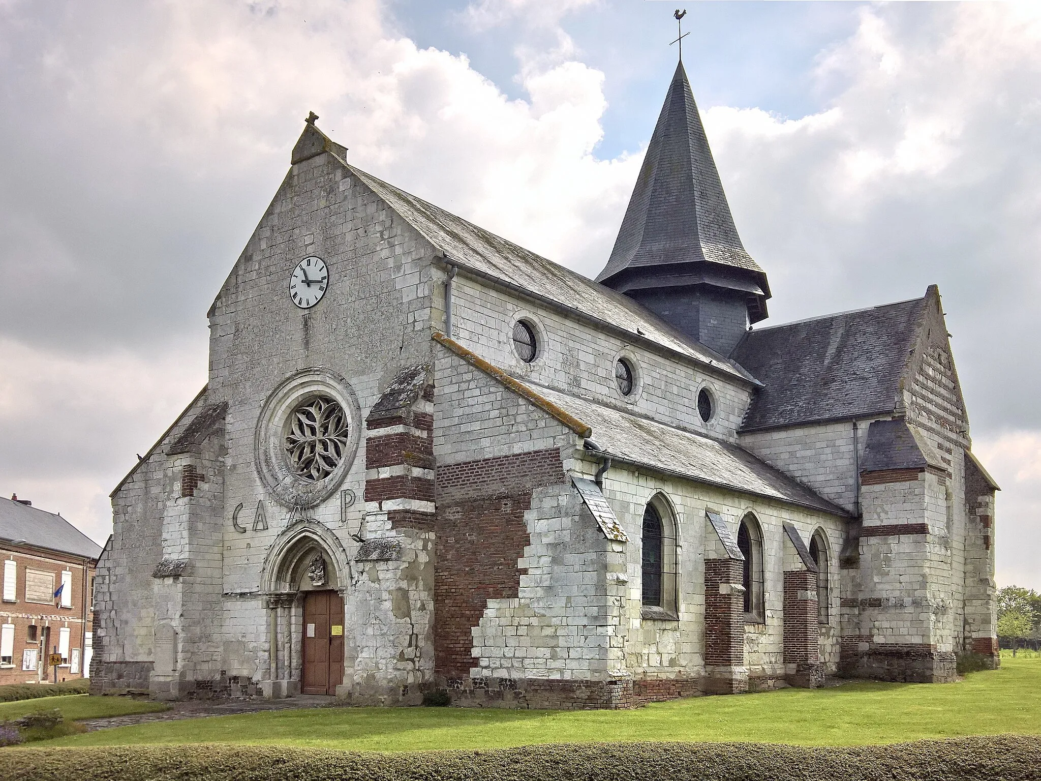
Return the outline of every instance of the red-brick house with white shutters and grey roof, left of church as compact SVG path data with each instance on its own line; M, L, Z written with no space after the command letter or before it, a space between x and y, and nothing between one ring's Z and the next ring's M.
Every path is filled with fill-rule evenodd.
M0 684L88 675L101 548L61 515L0 499ZM57 653L60 664L51 665Z

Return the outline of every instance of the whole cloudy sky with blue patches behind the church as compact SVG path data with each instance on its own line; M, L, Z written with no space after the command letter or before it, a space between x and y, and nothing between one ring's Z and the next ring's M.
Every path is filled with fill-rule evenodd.
M1039 4L679 5L764 325L938 284L998 584L1041 588ZM0 0L0 494L104 541L309 110L353 165L595 275L676 6Z

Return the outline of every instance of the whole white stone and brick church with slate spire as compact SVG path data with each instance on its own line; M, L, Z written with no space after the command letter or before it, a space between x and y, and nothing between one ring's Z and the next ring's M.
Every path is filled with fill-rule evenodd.
M316 119L111 495L95 691L619 708L998 663L937 287L759 325L682 64L595 281Z

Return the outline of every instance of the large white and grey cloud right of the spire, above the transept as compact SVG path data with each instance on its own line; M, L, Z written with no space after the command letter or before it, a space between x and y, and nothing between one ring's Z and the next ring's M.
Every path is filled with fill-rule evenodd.
M934 11L863 10L819 58L818 79L844 84L821 114L712 107L707 130L777 320L936 282L973 424L1041 428L1023 393L1041 370L1022 360L1041 297L1041 11Z

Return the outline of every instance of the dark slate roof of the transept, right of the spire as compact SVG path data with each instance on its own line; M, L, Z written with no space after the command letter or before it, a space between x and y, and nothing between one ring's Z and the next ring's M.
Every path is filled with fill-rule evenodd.
M762 381L741 429L891 412L925 298L748 331L731 358Z

